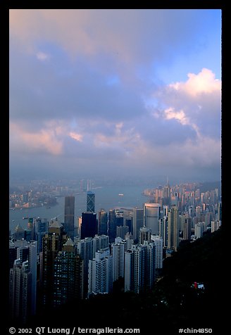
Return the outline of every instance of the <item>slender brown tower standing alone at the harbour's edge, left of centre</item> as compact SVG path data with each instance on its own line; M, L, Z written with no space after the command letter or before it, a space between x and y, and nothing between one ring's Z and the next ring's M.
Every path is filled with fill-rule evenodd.
M75 196L65 196L64 207L64 230L70 237L74 239L75 229Z

